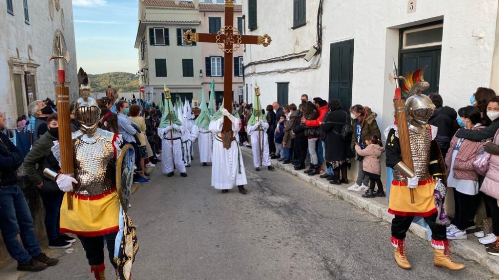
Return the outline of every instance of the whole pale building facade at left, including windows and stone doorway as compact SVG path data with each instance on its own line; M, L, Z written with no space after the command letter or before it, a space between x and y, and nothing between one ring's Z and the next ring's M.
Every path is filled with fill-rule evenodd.
M71 0L4 0L0 13L0 110L13 128L31 101L55 100L58 62L48 59L56 51L59 30L71 58L66 83L71 97L79 94L73 7Z

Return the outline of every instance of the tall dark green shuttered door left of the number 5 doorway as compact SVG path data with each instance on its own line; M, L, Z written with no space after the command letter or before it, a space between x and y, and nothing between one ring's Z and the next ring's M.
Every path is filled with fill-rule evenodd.
M343 109L352 105L353 40L331 44L329 99L339 99Z

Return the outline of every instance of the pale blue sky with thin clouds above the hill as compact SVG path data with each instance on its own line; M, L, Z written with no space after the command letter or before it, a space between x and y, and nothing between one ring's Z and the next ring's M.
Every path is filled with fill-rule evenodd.
M138 71L137 0L72 0L76 59L88 74Z

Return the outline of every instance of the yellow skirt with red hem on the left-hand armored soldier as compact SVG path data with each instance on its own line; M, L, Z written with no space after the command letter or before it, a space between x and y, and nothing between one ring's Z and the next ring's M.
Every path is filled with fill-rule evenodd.
M60 232L93 237L119 230L120 202L116 189L98 196L72 194L73 209L67 209L68 192L60 211Z

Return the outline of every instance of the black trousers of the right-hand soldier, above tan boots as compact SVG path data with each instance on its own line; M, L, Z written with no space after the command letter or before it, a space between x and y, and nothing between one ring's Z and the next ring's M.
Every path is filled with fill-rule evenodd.
M434 240L447 240L447 228L443 225L437 224L437 213L426 217L425 221L432 230L432 239ZM392 236L403 240L406 237L407 230L411 226L414 216L397 216L392 220Z

